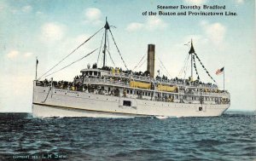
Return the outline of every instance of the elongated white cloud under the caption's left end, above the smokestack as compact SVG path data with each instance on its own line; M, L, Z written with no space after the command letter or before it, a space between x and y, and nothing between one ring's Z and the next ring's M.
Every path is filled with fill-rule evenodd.
M161 30L166 28L167 24L164 20L161 20L158 16L150 16L144 23L131 22L126 30L128 32L135 32L141 29L147 29L148 31Z

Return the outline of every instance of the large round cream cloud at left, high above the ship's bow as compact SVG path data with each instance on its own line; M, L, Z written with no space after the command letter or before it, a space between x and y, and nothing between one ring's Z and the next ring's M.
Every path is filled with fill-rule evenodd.
M46 23L41 28L41 39L45 43L55 43L64 37L65 26L56 23Z

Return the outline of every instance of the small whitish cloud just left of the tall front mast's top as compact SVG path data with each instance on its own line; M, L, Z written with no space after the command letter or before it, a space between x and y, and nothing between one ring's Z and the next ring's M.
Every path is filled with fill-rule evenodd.
M85 23L92 23L98 25L102 23L102 11L96 8L85 9Z

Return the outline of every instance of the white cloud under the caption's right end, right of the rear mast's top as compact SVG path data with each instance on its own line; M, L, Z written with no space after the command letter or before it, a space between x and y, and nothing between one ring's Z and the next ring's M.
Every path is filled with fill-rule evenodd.
M224 42L226 27L219 22L210 24L207 21L202 21L201 26L207 35L212 40L212 43L218 45Z

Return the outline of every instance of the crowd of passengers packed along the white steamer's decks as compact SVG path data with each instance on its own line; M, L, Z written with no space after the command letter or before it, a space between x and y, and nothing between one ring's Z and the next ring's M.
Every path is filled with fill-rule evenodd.
M96 64L94 64L93 69L97 69ZM118 72L118 73L127 73L127 74L131 74L132 75L136 75L136 76L142 76L142 77L149 77L149 72L145 71L145 72L132 72L130 71L123 71L122 68L113 68L113 67L109 67L109 66L104 66L102 68L98 68L101 70L105 70L105 71L112 71L112 72ZM82 73L82 75L78 75L75 76L73 78L73 82L67 82L67 81L53 81L52 85L56 88L56 89L69 89L69 90L79 90L79 91L84 91L84 85L83 85L83 80L84 78L101 78L101 79L107 79L110 80L111 82L114 83L125 83L126 85L128 85L131 82L131 79L129 78L122 78L122 77L113 77L113 76L99 76L99 75L89 75L89 74L85 74L84 72ZM195 92L208 92L208 93L227 93L227 91L224 90L218 90L218 86L216 84L212 84L212 83L202 83L200 80L195 80L195 81L190 81L191 78L189 79L183 79L183 78L171 78L168 79L165 75L163 75L162 77L160 76L156 76L155 78L156 80L163 82L176 82L179 84L186 84L186 85L191 85L194 84L195 86L198 85L207 85L208 87L212 87L212 89L183 89L183 87L180 87L180 91L183 91L184 94L194 94ZM39 86L50 86L51 85L51 81L48 81L47 79L45 79L44 81L38 81L37 85Z

